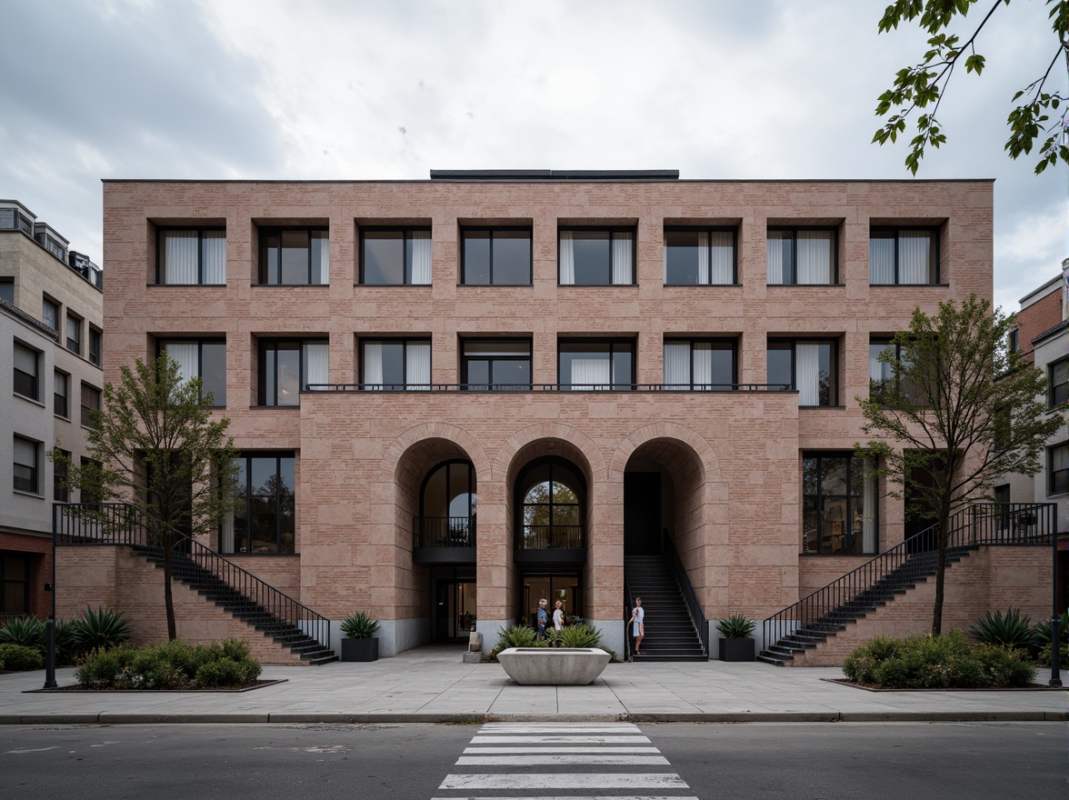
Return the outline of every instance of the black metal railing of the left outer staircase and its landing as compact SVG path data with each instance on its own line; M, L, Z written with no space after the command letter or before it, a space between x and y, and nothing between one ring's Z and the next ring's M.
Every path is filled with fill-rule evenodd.
M151 541L145 513L126 503L57 503L52 536L62 545L159 547ZM246 569L224 558L211 548L171 528L173 559L187 559L224 583L255 611L270 614L282 625L330 647L330 620Z

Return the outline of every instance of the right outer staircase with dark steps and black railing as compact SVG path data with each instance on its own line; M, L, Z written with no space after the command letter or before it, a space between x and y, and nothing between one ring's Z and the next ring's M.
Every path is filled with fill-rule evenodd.
M986 503L954 514L947 527L946 567L981 547L1050 547L1056 536L1052 504ZM863 617L935 575L938 526L848 572L764 620L765 648L757 660L776 666L792 661Z

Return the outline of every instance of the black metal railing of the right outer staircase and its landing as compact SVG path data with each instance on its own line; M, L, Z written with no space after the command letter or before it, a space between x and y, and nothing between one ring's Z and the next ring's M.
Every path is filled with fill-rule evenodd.
M962 509L947 521L947 551L963 551L980 544L1050 545L1056 536L1056 506L1051 503L983 503ZM836 612L849 613L865 604L870 591L895 588L917 576L911 566L933 569L939 525L911 536L826 586L773 614L763 622L764 647L796 630L830 626Z

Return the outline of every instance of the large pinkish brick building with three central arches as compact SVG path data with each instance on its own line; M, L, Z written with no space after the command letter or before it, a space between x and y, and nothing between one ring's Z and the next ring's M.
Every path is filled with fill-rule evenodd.
M104 237L105 376L171 354L242 451L203 543L383 655L543 597L622 651L632 556L762 618L901 542L856 398L992 293L987 180L109 180Z

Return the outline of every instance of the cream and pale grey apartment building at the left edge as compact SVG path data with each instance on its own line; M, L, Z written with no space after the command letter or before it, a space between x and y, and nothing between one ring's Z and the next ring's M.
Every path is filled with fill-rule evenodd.
M52 503L79 497L46 453L84 458L84 427L100 405L102 274L68 244L18 201L0 200L0 619L48 616Z

